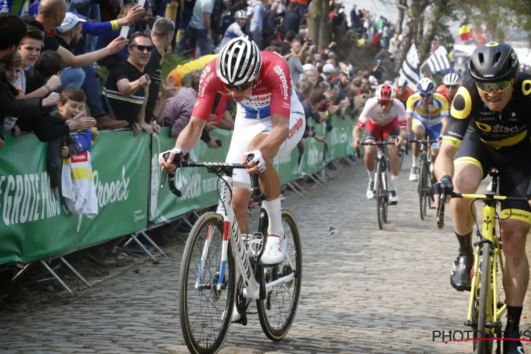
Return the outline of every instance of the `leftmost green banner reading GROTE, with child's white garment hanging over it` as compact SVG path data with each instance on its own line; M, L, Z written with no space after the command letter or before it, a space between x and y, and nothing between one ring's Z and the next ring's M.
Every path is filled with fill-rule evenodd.
M52 193L47 144L6 136L0 154L0 263L35 261L147 227L149 135L101 132L91 149L98 216L72 214ZM59 191L60 193L60 191ZM62 200L62 198L61 198Z

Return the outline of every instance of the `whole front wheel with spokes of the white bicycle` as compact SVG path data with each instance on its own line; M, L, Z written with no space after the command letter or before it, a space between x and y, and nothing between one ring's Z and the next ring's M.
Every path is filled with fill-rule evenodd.
M215 212L201 215L183 253L179 319L186 346L194 354L217 353L231 325L236 265L229 242L227 260L222 261L223 228L221 215Z

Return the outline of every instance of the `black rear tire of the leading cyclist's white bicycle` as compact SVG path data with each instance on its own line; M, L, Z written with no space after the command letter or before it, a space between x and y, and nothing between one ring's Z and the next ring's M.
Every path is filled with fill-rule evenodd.
M297 270L295 270L296 276L294 280L294 292L293 292L293 301L292 306L290 308L290 314L287 315L286 321L284 322L281 329L274 329L273 326L271 326L266 304L268 299L258 299L256 300L256 309L258 312L258 319L260 320L260 326L262 327L262 331L265 334L266 337L268 337L271 341L281 341L282 338L284 338L287 333L290 331L291 326L293 324L293 321L295 321L295 315L297 314L297 307L299 307L299 301L300 301L300 290L301 290L301 281L302 281L302 244L300 241L300 233L299 233L299 227L297 225L297 220L295 219L295 215L293 215L290 210L282 210L282 220L285 220L287 224L289 225L292 235L293 235L293 243L295 245L295 259L297 261ZM262 271L263 276L263 271ZM275 291L274 289L271 291ZM268 297L270 296L270 293L268 293Z

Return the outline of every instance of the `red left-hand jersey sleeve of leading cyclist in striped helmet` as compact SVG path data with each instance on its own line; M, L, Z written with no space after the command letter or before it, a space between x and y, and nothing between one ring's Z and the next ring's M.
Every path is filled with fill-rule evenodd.
M193 106L192 117L210 120L210 110L214 106L216 93L224 90L224 85L216 74L216 61L212 60L201 73L198 99ZM219 100L219 104L222 104L222 101L223 98Z

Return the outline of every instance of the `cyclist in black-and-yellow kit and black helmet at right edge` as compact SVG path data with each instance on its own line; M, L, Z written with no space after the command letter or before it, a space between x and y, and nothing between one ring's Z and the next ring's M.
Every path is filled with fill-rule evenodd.
M531 75L518 73L518 57L510 45L490 42L476 47L469 60L472 79L459 88L442 137L434 173L435 193L476 193L489 169L496 167L500 193L524 197L531 176ZM454 159L455 158L455 159ZM459 240L450 282L459 291L470 282L474 215L471 200L450 201ZM475 209L474 209L475 214ZM524 353L519 324L529 280L525 237L531 227L527 202L501 203L501 236L506 256L507 327L503 353Z

